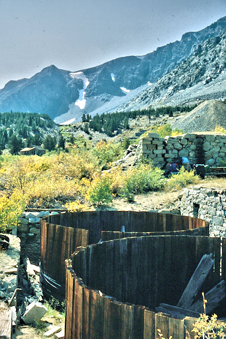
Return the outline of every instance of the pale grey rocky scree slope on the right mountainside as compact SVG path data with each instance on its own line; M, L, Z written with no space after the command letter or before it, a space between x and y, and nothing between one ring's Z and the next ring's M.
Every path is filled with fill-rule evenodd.
M191 56L118 110L195 104L226 96L226 34L207 39Z

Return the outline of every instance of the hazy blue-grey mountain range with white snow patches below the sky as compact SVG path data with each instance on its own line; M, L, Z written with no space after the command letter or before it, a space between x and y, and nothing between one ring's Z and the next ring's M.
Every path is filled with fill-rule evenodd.
M193 74L193 59L189 59L189 65L186 62L188 58L195 56L198 64L201 52L211 49L209 47L209 44L213 43L211 38L216 39L213 43L215 46L222 45L225 24L226 17L199 32L186 33L180 41L157 48L156 51L144 56L122 57L76 72L61 70L54 65L46 67L30 79L8 82L0 90L0 111L12 109L47 113L51 118L55 118L56 122L63 122L69 119L79 121L83 113L94 115L97 112L145 107L158 98L159 84L166 87L167 91L169 87L174 86L170 79L166 81L165 77L169 77L169 74L173 75L175 83L179 83L173 87L173 93L187 86L190 88L191 84L196 84L202 76L203 79L208 78L206 67L200 69L198 66ZM218 52L213 47L211 58L207 56L206 60L210 71L212 67L218 71L217 67L220 66L217 77L219 75L222 77L225 63L221 62L223 56L220 56L220 60L217 59ZM219 53L223 53L222 48ZM204 60L202 64L203 62ZM178 68L183 65L183 69ZM180 71L184 74L183 81L180 81L178 76ZM191 79L187 82L189 75ZM164 82L164 86L161 81ZM155 95L150 94L154 88L151 83L157 86ZM172 90L169 89L170 91ZM138 94L140 92L142 93ZM147 100L144 100L144 96Z

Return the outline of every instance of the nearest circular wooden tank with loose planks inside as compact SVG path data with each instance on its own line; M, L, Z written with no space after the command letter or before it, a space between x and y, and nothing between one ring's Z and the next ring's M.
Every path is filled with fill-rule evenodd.
M212 253L214 265L202 291L225 279L226 253L225 247L221 252L220 242L219 238L165 235L77 249L66 260L65 338L154 339L159 337L158 329L163 337L184 338L185 326L190 331L194 318L174 318L155 307L177 305L204 254ZM193 332L190 335L194 338Z

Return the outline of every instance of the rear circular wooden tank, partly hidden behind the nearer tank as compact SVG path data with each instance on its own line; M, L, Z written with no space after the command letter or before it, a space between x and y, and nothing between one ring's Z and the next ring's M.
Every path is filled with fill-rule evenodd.
M61 213L43 219L40 282L44 296L64 299L64 261L77 247L98 243L101 237L109 240L158 234L208 235L208 222L182 215L134 211Z

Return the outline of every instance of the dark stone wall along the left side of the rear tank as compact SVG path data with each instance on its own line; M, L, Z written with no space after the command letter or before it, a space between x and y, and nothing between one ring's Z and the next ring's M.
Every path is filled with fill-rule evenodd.
M40 258L40 219L55 211L24 212L18 217L17 234L21 239L21 257L28 257L32 263L39 264Z

